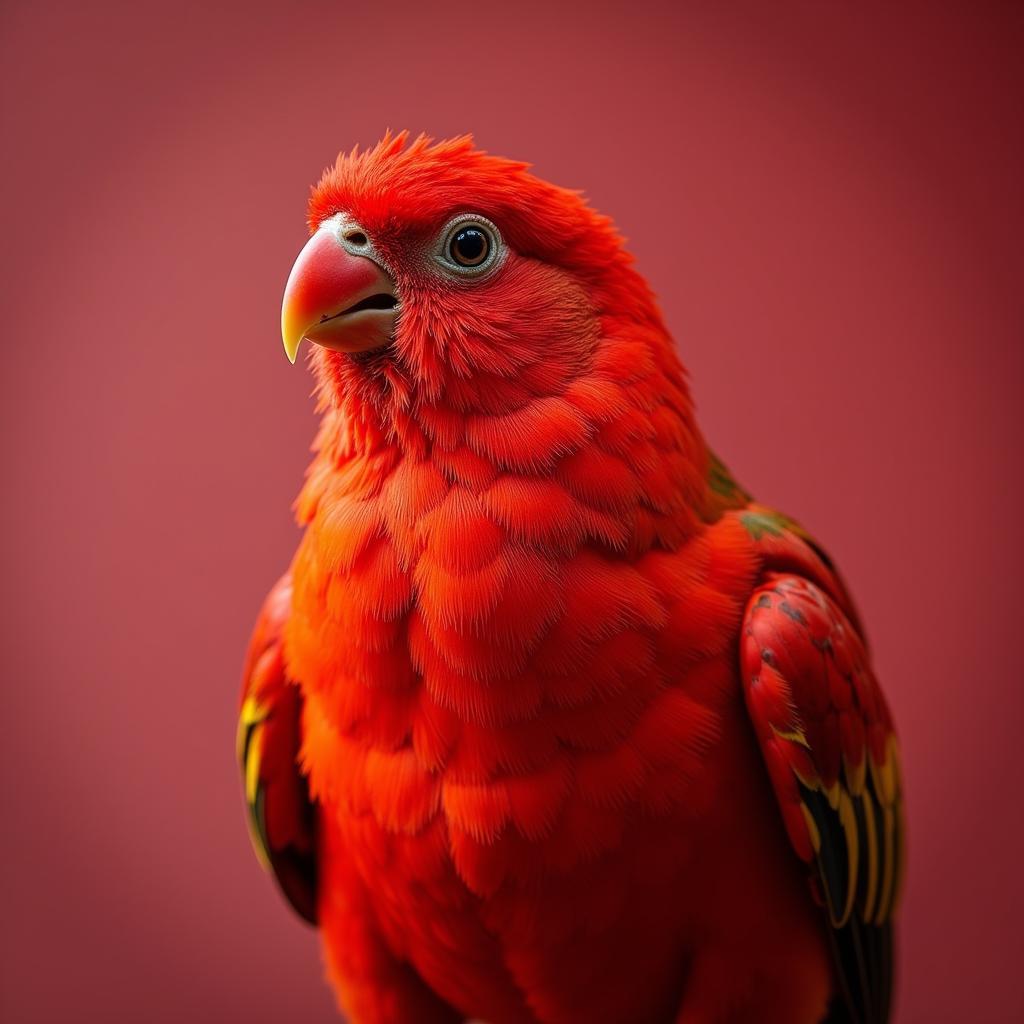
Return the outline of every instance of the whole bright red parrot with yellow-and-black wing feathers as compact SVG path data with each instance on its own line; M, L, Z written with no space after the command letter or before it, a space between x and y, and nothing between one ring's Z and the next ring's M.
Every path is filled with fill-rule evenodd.
M308 227L282 334L321 420L237 754L341 1014L889 1020L903 797L864 628L705 440L613 221L388 132Z

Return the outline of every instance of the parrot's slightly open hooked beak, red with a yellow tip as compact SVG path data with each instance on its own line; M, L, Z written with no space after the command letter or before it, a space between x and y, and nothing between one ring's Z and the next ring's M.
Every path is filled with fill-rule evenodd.
M366 234L332 217L299 253L281 306L291 362L303 338L340 352L365 352L391 341L398 313L394 282L359 248L369 251Z

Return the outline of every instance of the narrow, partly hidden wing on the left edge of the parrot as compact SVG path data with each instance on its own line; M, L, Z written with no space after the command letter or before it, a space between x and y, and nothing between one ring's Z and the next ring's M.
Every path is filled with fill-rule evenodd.
M242 677L237 754L256 856L295 910L316 924L315 815L299 770L302 693L288 678L282 633L292 604L286 574L260 609Z

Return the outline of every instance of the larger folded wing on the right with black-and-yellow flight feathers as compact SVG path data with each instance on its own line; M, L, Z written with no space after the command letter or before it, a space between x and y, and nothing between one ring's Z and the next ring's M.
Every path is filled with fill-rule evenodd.
M792 571L766 573L746 606L740 664L786 833L831 926L845 1016L830 1019L882 1024L903 853L898 751L865 643L837 596Z

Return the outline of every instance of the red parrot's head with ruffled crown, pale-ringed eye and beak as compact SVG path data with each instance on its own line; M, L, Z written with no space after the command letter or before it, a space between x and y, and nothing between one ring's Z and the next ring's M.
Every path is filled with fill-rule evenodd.
M652 328L653 297L612 222L468 137L386 136L313 188L282 309L329 399L383 410L521 406L591 364L609 321Z

